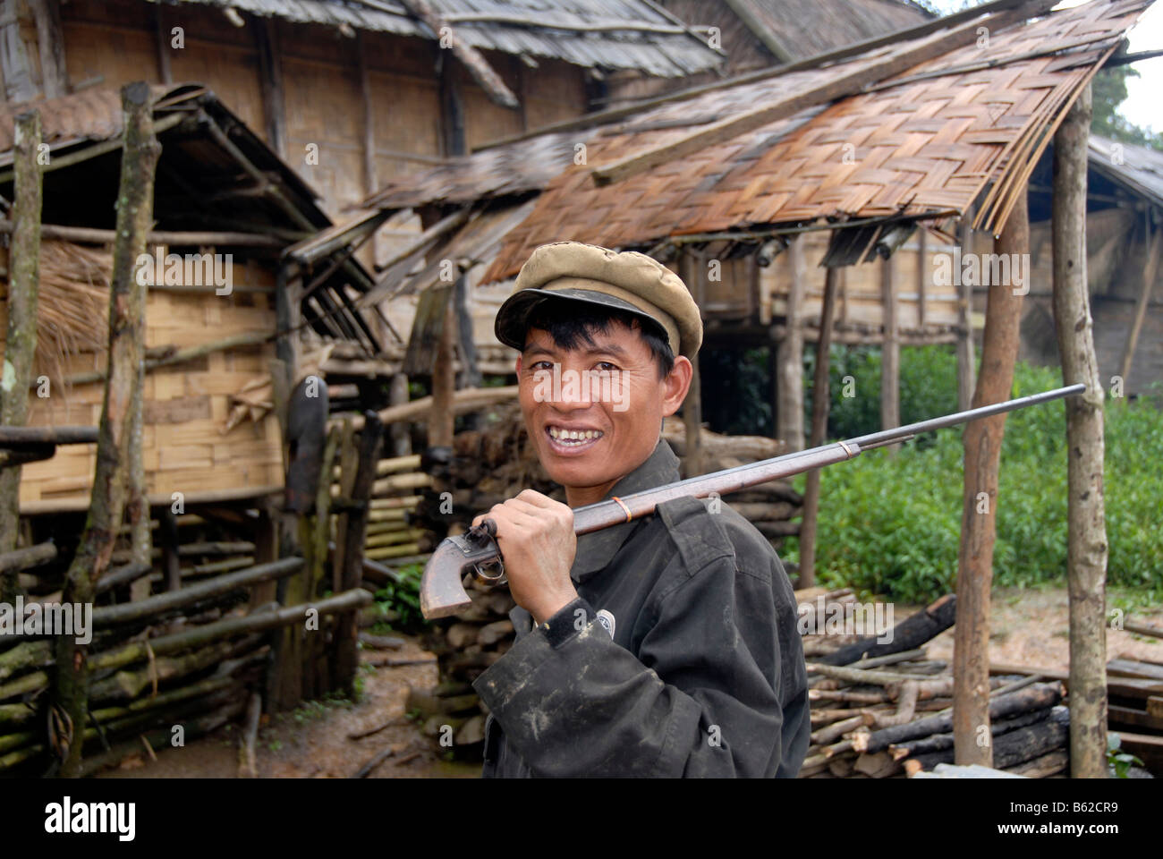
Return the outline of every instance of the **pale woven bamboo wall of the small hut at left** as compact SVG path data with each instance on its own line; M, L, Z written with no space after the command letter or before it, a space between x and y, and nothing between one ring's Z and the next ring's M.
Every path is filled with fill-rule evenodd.
M273 276L257 265L234 267L234 284L272 285ZM0 305L0 335L6 325ZM274 296L264 292L174 292L150 290L145 306L147 348L194 347L250 332L274 331ZM106 319L94 325L107 325ZM258 423L243 420L223 434L230 395L251 379L270 374L273 343L215 352L145 375L143 459L147 490L194 496L212 490L255 489L283 484L279 425L267 413ZM65 360L67 375L104 370L105 356L83 353ZM37 368L40 375L43 368ZM101 419L102 383L66 389L51 379L48 398L29 400L29 426L97 426ZM63 506L87 507L97 466L95 445L65 445L51 460L23 467L21 510L35 513Z

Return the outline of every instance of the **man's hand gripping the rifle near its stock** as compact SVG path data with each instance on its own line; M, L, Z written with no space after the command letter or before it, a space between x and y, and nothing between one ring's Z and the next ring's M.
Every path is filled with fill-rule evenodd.
M472 520L497 523L497 545L505 558L513 599L543 624L577 599L570 567L577 553L573 511L552 498L526 489Z

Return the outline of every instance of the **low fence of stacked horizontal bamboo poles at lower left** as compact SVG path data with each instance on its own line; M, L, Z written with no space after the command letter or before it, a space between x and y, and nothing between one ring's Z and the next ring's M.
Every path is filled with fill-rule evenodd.
M276 644L281 630L309 627L307 604L274 599L280 580L302 576L304 559L256 565L255 545L238 539L242 534L195 514L177 519L179 542L176 551L163 547L163 572L130 562L97 583L85 630L92 636L85 724L72 724L53 688L58 637L34 634L44 629L27 623L23 636L0 636L0 774L51 774L77 743L84 743L83 772L92 773L126 757L188 743L244 712L245 738L254 743L273 680L267 672L272 645L281 646ZM42 546L48 548L19 551L36 549L43 561L22 574L20 601L56 615L69 559L58 556L52 544ZM114 552L115 558L126 554L120 547ZM217 560L223 554L230 563ZM170 570L166 556L173 561ZM180 587L166 589L167 578ZM149 589L140 592L147 581L154 582L152 596ZM130 598L131 591L138 598ZM363 590L317 596L311 605L323 638L337 612L370 602ZM324 643L317 649L324 661L333 655Z

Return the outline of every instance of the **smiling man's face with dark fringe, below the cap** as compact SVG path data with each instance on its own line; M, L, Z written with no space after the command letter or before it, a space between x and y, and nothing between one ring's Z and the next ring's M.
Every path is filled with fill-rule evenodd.
M654 453L662 419L678 410L691 382L682 356L659 378L650 347L620 321L591 339L563 349L530 328L516 364L529 438L573 506L599 501Z

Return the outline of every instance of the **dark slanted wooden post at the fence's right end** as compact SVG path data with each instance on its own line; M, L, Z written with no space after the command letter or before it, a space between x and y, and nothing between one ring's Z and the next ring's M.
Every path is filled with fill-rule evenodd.
M358 588L363 578L363 548L368 531L368 503L371 499L372 487L376 483L376 464L379 462L384 425L376 412L364 413L364 428L359 433L358 464L356 466L350 499L363 506L352 510L344 517L343 568L340 570L342 594ZM338 545L338 544L336 544ZM355 694L356 669L359 667L359 653L356 648L359 634L358 612L351 611L336 617L335 639L333 643L334 669L331 680L334 688L343 689L349 696Z

